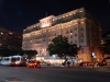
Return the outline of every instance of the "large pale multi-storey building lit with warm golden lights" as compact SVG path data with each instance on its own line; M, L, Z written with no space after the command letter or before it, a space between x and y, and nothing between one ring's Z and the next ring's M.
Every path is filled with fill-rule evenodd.
M98 47L101 39L101 27L98 21L84 8L40 20L40 23L23 31L22 49L37 50L41 56L48 56L48 44L57 35L66 36L70 44L81 46L78 59L91 60L91 52L100 59Z

